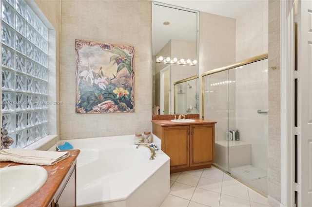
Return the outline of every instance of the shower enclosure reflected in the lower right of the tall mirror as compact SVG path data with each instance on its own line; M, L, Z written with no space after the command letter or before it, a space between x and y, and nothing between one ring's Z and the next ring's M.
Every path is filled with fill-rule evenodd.
M174 83L175 113L198 114L198 76L192 76Z

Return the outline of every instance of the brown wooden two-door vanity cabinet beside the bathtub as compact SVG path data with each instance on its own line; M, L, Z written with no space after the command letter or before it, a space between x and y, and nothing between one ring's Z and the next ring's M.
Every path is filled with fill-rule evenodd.
M215 162L215 123L161 126L153 122L153 134L170 157L170 173L208 168Z

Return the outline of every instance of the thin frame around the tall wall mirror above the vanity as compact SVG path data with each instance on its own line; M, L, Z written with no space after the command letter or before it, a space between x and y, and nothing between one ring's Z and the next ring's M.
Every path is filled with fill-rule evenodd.
M199 58L199 11L197 10L193 10L193 9L188 9L188 8L183 8L183 7L179 7L179 6L175 6L175 5L171 5L171 4L167 4L167 3L162 3L162 2L158 2L158 1L152 1L152 83L153 83L153 105L152 105L152 115L155 115L154 114L154 106L155 106L155 100L156 100L156 91L155 91L155 28L154 28L154 25L155 25L155 22L154 22L154 7L156 5L159 5L159 6L165 6L165 7L169 7L169 8L173 8L173 9L179 9L179 10L182 10L182 11L187 11L187 12L193 12L196 14L196 28L197 28L197 31L196 31L196 60L197 60L197 65L195 66L196 67L196 74L194 76L196 76L196 79L197 79L197 84L196 84L196 94L197 94L197 97L200 97L199 94L200 94L200 87L199 87L199 67L200 67L200 58ZM192 76L193 77L193 76ZM189 78L192 78L192 77L189 77ZM188 79L188 78L186 78ZM176 100L174 100L174 103L175 103ZM197 104L199 106L200 104L200 98L198 98L197 100ZM174 105L174 108L176 106ZM199 107L197 108L197 112L199 112ZM169 113L173 113L173 112L169 112ZM175 109L174 109L174 113L175 113ZM157 115L157 114L156 114Z

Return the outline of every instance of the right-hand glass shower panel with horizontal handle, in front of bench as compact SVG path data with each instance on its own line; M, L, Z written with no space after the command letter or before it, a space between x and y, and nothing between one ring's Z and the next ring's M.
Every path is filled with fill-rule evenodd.
M230 70L235 71L232 101L239 141L229 142L229 172L267 194L268 60Z

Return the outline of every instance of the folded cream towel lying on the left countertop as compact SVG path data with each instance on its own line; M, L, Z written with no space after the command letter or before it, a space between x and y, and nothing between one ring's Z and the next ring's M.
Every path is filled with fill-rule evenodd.
M26 150L22 148L4 149L0 151L0 162L12 161L23 164L54 165L69 155L69 152Z

